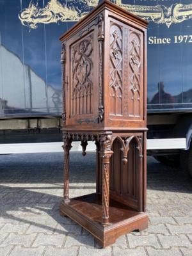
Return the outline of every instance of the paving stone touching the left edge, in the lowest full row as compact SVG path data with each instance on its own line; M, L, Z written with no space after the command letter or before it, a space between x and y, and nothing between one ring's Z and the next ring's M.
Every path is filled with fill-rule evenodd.
M15 244L15 245L23 245L25 247L31 246L31 243L35 239L36 234L31 234L31 235L18 235L18 234L12 234L3 241L1 246L7 246L10 244Z

